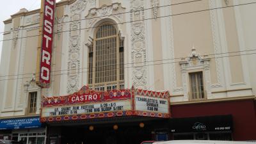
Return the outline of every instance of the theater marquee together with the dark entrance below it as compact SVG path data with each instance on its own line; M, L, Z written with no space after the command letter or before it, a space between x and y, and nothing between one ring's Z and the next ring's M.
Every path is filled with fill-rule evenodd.
M168 140L168 118L168 92L96 92L83 86L72 95L42 99L41 122L47 124L51 144Z

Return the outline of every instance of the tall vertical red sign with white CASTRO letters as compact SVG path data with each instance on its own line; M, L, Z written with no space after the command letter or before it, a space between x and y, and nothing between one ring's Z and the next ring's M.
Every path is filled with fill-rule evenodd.
M40 85L42 88L47 88L50 84L54 9L55 0L44 0L44 24L40 61Z

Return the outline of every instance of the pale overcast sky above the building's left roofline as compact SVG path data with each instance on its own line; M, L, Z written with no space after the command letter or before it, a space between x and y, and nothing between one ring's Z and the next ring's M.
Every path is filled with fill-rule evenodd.
M57 2L60 0L57 0ZM26 8L27 10L36 10L40 8L41 0L1 0L0 4L0 32L4 31L3 21L10 18L10 15L19 12L21 8ZM2 49L8 49L10 47L4 47L3 45L3 33L0 33L0 62L1 62L1 52Z

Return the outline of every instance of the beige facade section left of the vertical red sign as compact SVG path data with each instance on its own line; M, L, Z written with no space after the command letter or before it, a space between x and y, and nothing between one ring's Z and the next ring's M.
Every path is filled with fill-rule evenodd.
M1 113L0 116L20 116L26 115L26 109L28 107L28 92L38 91L38 86L32 88L27 84L33 81L33 74L36 70L36 47L38 40L38 19L34 12L29 12L28 16L25 15L27 11L21 9L20 12L12 15L12 19L6 20L4 23L5 37L8 37L4 41L5 56L2 60L6 64L1 63L1 69L4 68L3 79L3 91L1 91ZM35 78L35 77L34 77ZM2 77L1 77L2 79ZM27 87L26 87L27 86ZM29 87L29 88L28 88ZM40 102L40 93L38 93L38 102ZM36 111L39 114L38 104Z

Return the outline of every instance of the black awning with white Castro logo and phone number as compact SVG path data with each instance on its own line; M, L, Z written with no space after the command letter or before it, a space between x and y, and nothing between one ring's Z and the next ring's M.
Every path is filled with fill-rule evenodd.
M232 140L232 115L172 118L173 140Z

